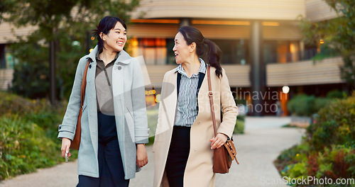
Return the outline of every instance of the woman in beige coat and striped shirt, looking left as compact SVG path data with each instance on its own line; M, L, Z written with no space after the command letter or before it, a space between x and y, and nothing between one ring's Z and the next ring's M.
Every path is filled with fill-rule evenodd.
M218 134L214 137L209 106L206 52L211 66L214 113ZM166 72L161 90L158 125L155 132L154 187L214 186L213 149L231 138L237 108L224 69L221 50L191 26L179 29L173 47L176 69ZM215 73L213 73L215 72ZM222 107L222 108L221 108Z

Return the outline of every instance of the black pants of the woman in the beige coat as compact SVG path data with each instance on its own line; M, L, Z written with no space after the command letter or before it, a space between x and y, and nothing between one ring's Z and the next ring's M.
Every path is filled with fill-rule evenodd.
M182 187L184 185L184 172L190 154L190 129L174 126L165 165L170 187Z

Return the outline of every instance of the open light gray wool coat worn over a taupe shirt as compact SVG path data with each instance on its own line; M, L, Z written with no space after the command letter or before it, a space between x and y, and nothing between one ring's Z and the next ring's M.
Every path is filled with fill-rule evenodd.
M80 88L87 60L91 60L87 70L87 86L82 110L82 135L78 155L77 174L99 177L97 96L95 89L96 55L95 47L77 65L72 94L58 138L74 138L77 116L80 110ZM138 60L122 50L112 69L112 91L117 136L124 165L125 179L133 179L139 167L136 166L136 143L148 142L148 123L143 74Z

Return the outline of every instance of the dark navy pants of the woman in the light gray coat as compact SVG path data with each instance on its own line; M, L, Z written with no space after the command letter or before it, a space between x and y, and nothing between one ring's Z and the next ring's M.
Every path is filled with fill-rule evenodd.
M99 125L99 178L79 176L77 187L127 187L124 179L119 141L117 139L114 115L97 113Z

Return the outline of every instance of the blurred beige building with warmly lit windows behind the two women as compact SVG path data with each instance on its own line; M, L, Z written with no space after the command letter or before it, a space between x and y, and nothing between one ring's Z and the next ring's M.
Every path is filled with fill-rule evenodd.
M178 28L194 26L224 52L222 67L239 102L256 106L279 100L287 114L285 103L293 94L324 96L333 89L344 89L339 70L342 57L313 62L311 58L320 52L323 43L307 46L302 42L298 16L319 22L336 18L337 13L322 0L142 0L131 13L131 39L126 48L133 57L143 55L156 91L147 91L147 102L154 102L163 75L177 66L172 49ZM0 24L3 90L11 85L16 63L6 51L8 41L14 37L9 34L11 29L9 23ZM14 32L27 35L34 29L16 28ZM258 99L253 98L255 94ZM252 113L268 115L276 111Z

